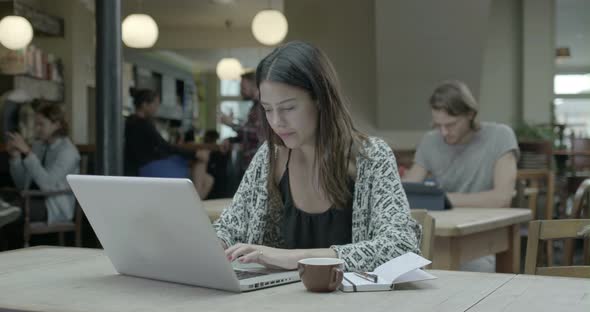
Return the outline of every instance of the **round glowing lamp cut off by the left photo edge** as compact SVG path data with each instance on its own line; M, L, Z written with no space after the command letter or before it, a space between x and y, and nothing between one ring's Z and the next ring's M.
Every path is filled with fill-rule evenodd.
M33 40L33 26L22 16L8 15L0 21L0 43L11 50L26 47Z

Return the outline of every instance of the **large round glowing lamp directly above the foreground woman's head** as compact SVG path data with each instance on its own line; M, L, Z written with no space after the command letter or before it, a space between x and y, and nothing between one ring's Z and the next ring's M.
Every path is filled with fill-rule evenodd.
M252 20L252 34L264 45L275 45L287 36L289 24L283 13L277 10L262 10Z

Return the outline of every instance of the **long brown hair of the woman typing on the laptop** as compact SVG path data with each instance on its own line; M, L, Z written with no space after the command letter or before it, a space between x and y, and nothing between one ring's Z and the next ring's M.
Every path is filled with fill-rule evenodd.
M256 85L264 81L283 83L309 93L317 105L314 168L319 170L319 187L336 207L352 199L349 188L349 156L359 153L366 136L353 124L332 63L318 48L300 41L286 43L266 56L256 69ZM269 147L267 189L271 200L280 198L274 183L276 146L284 146L271 129L264 110L257 105L263 135Z

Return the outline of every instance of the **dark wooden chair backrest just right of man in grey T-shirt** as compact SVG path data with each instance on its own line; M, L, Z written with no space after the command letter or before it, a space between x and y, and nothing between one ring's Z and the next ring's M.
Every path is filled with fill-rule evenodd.
M520 149L519 169L551 169L553 144L549 141L518 142Z

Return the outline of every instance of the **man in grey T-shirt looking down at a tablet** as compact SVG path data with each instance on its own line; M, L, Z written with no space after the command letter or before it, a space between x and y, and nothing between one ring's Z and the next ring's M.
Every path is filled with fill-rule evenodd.
M479 122L477 103L460 81L441 83L430 108L435 130L422 138L403 180L432 176L454 207L509 207L519 156L512 129Z

